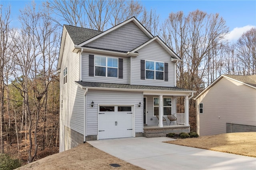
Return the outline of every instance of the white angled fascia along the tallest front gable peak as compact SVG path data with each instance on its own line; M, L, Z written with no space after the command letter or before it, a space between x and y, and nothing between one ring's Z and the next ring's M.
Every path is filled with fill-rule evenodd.
M92 41L94 41L94 40L112 32L112 31L124 26L125 24L127 24L128 22L131 22L131 21L134 22L134 24L136 24L147 36L149 36L150 38L153 38L152 34L148 30L146 30L146 28L144 26L142 26L142 24L140 24L140 22L138 22L138 20L135 17L132 17L129 20L126 20L125 22L122 22L121 24L118 24L117 26L114 26L114 27L106 30L105 32L102 32L101 34L98 34L97 36L95 36L95 37L93 37L93 38L91 38L91 39L89 39L85 42L82 42L82 43L78 44L78 46L82 47L85 44L90 43L90 42L92 42Z

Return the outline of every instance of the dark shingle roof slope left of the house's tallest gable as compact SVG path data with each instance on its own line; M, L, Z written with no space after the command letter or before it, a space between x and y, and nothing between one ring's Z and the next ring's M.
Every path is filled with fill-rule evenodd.
M91 30L88 28L81 28L81 27L70 26L70 25L64 25L64 26L68 34L70 35L71 40L75 45L78 45L102 33L102 31Z

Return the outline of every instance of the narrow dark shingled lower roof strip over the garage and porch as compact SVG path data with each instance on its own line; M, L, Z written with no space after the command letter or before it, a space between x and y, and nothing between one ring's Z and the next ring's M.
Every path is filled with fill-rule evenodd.
M128 85L128 84L116 84L116 83L99 83L88 81L76 81L76 83L85 87L106 87L106 88L122 88L122 89L150 89L150 90L174 90L174 91L192 91L189 89L182 89L179 87L158 87L158 86L146 86L146 85Z

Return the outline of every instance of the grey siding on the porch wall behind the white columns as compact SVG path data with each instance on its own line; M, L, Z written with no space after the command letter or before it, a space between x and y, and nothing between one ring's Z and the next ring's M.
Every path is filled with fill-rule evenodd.
M158 97L158 96L153 96L153 95L145 95L144 97L147 97L147 125L148 126L153 126L153 125L158 125L158 119L156 118L156 116L154 116L154 97ZM172 114L176 114L176 98L172 97L172 96L163 96L163 98L166 97L170 97L172 98ZM151 118L153 119L151 121ZM164 118L167 121L167 124L169 125L169 119L167 118L167 116L164 116ZM164 124L166 124L165 122L163 122Z

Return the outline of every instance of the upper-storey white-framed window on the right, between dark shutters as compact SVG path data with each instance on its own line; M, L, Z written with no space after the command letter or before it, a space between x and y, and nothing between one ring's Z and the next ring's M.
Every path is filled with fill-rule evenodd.
M146 79L164 80L164 63L146 61Z

